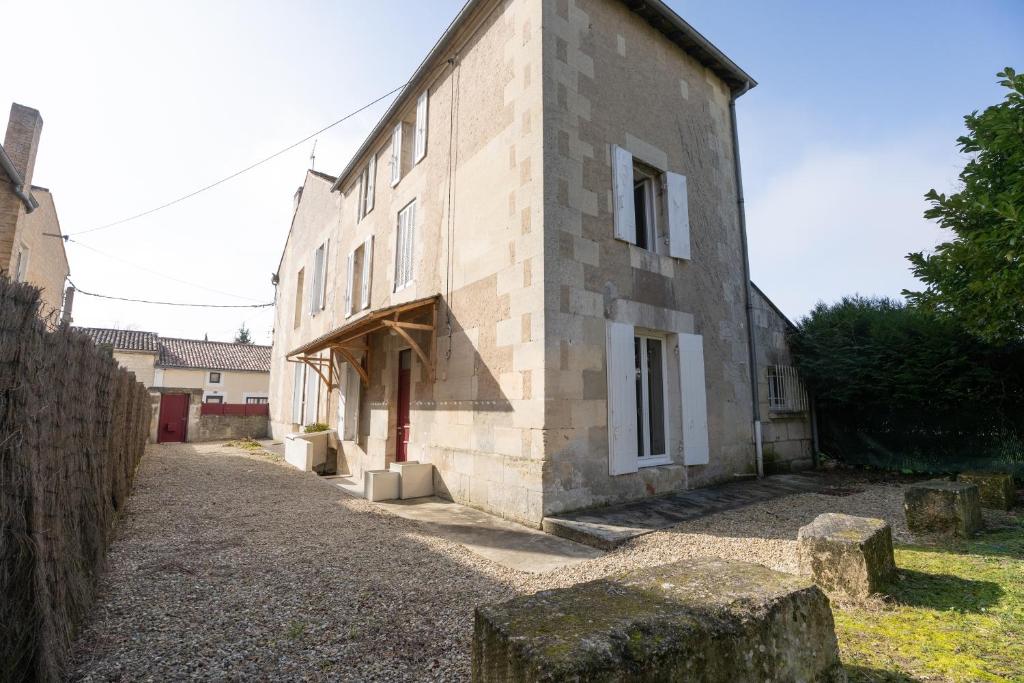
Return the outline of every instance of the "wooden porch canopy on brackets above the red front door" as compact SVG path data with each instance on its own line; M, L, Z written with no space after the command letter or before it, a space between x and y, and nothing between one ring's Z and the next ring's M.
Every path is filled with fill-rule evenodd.
M387 330L394 332L409 343L413 352L427 368L430 378L433 379L433 331L437 327L438 300L440 300L440 295L435 294L424 299L375 310L296 348L289 352L287 358L292 362L306 364L319 375L329 389L333 389L336 387L333 360L334 354L337 353L359 374L364 386L370 386L369 337L375 332ZM430 346L426 350L410 334L410 331L420 330L431 333ZM330 357L318 357L317 354L327 350L331 351Z

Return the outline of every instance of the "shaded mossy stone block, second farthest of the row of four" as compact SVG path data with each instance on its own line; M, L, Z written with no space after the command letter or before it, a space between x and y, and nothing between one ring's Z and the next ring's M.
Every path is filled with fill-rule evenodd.
M933 479L907 486L903 509L914 533L969 537L984 526L978 487L963 481Z

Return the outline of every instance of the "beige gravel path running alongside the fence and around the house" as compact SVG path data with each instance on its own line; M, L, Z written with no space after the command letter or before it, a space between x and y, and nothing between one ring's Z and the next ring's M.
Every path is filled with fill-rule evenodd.
M697 556L793 571L822 512L884 517L857 483L720 513L547 574L506 569L288 466L216 444L150 446L73 680L467 680L473 607Z

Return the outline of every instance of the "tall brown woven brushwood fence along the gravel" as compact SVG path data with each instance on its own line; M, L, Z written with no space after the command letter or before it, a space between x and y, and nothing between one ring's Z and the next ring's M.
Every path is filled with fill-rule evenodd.
M0 680L56 681L145 446L150 397L0 278ZM52 330L52 331L50 331Z

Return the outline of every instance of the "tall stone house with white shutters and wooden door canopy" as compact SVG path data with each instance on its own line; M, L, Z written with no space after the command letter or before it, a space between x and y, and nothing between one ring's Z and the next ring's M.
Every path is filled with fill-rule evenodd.
M809 418L762 416L752 372L785 345L751 322L733 102L754 85L656 0L468 2L340 175L296 194L274 436L327 422L356 477L430 462L441 495L532 525L756 473L759 418ZM806 460L802 429L772 456Z

